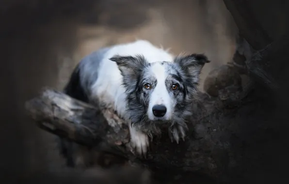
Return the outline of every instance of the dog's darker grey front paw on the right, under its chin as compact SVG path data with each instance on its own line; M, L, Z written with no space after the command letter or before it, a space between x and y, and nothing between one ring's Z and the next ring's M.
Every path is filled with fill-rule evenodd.
M176 140L177 144L179 142L179 139L182 138L183 141L185 141L186 131L188 130L187 124L174 124L169 128L169 137L171 138L171 141L174 142L174 139Z

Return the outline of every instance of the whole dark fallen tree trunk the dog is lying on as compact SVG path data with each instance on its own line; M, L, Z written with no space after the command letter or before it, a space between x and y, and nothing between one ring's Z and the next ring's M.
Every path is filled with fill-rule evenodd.
M252 61L262 63L266 56L280 50L272 46L279 44L257 52ZM262 68L246 64L249 74ZM269 151L270 147L285 140L272 135L286 128L280 129L272 123L278 108L272 109L270 97L262 98L257 92L261 88L254 84L259 81L251 77L248 85L241 86L238 72L232 67L222 66L209 74L208 80L214 82L205 83L214 86L208 87L208 93L214 97L197 93L186 140L172 143L164 132L153 139L146 158L130 151L128 127L111 109L99 109L50 89L28 101L26 109L40 128L98 152L115 155L131 165L148 168L162 182L195 181L203 178L202 175L222 182L236 182L238 177L246 181L255 172L261 173L262 163L273 152Z

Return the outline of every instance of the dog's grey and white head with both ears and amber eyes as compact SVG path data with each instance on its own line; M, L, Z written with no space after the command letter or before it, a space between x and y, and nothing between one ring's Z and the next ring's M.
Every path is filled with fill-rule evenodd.
M204 64L203 54L177 56L173 62L147 62L143 56L114 56L123 76L128 113L140 127L184 123Z

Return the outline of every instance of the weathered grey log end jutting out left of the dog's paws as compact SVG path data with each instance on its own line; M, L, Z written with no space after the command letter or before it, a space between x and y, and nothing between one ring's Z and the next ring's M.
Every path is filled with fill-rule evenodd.
M62 92L45 89L25 107L40 128L81 145L120 145L129 140L128 127L114 112L105 111L110 116L107 120L102 110Z

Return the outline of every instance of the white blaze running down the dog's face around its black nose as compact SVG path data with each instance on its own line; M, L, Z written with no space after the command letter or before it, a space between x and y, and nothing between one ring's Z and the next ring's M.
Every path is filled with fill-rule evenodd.
M150 119L154 119L152 113L152 107L155 105L164 105L167 108L167 113L165 114L165 119L171 118L171 99L167 87L165 85L165 80L168 77L164 65L161 62L153 63L150 67L151 74L156 78L157 85L153 89L149 100L148 116Z

